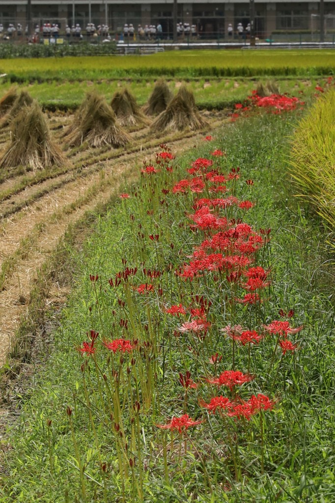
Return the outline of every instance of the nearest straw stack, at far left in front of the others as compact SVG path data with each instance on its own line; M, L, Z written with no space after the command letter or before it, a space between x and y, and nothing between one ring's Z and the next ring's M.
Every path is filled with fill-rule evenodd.
M65 162L50 138L49 129L37 102L24 107L12 123L12 143L0 160L1 167L27 166L44 169Z

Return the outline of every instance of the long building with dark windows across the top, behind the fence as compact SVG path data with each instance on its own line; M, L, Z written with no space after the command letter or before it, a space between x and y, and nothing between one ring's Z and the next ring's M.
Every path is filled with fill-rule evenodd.
M27 0L0 0L0 23L26 24ZM260 37L272 33L317 31L319 29L320 2L305 1L255 2L256 32ZM61 30L66 24L107 24L111 31L122 30L124 23L162 25L163 33L173 33L173 0L31 0L32 19L35 24L58 23ZM335 1L324 2L325 30L335 32ZM236 29L249 22L249 2L241 0L178 0L178 21L197 26L203 34L225 36L228 24Z

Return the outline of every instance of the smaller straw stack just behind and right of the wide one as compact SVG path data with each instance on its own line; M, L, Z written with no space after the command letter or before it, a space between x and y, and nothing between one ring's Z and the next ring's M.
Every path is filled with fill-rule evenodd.
M127 89L114 94L111 107L121 126L149 124L149 120L137 105L135 97Z

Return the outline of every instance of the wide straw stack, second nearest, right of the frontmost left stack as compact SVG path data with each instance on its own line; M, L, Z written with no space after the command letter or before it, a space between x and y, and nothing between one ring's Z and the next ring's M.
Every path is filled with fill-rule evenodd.
M88 96L82 117L76 115L75 127L67 135L67 143L71 146L81 145L84 141L92 147L121 147L131 141L131 136L117 124L112 107L97 94Z

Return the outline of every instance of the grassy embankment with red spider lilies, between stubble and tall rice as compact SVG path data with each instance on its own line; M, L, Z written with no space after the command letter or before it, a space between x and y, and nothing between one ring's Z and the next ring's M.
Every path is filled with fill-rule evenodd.
M142 166L129 198L72 252L75 290L12 429L0 501L331 503L331 271L286 183L294 124L240 119L171 164ZM207 159L225 174L227 194L211 172L214 192L197 172L192 182L197 157L193 169ZM215 211L201 212L211 198ZM220 250L227 261L256 251L249 276L216 263ZM238 342L239 325L255 344ZM242 387L220 386L228 369L244 373ZM264 393L257 414L251 393Z

